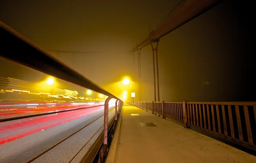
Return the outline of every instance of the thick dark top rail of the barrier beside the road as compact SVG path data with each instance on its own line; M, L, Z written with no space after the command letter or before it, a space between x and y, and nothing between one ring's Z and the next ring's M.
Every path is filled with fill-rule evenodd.
M120 100L0 21L0 57ZM16 48L19 45L19 48ZM12 48L10 48L12 47Z

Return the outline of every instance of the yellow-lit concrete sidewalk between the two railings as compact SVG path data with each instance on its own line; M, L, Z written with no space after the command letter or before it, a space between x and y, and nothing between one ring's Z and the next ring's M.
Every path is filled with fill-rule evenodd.
M134 106L124 106L120 119L106 163L256 163L251 154Z

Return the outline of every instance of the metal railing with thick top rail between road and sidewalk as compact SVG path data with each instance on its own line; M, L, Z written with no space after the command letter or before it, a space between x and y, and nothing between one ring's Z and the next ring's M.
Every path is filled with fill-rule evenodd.
M118 97L114 96L110 92L104 90L103 88L101 88L100 86L98 86L97 84L89 80L88 78L85 78L79 72L76 72L69 66L65 65L64 63L59 61L57 58L53 57L51 54L45 51L43 48L40 48L38 45L34 44L34 42L31 42L30 40L22 36L20 33L16 32L11 27L9 27L8 25L4 24L1 21L0 21L0 42L1 42L0 57L6 60L10 60L12 62L18 63L22 66L26 66L28 68L37 70L39 72L52 75L56 78L73 83L75 85L79 85L83 88L88 88L91 91L104 94L105 96L108 97L107 100L105 100L104 115L102 115L104 116L104 124L101 127L104 127L104 130L102 131L101 136L99 136L97 139L97 143L98 142L99 143L95 144L94 142L94 145L91 146L90 150L87 151L87 154L85 155L90 157L86 157L85 159L83 158L82 160L82 162L92 162L92 160L98 160L99 163L103 162L104 157L107 156L108 145L111 138L110 135L113 134L116 121L122 109L122 105L123 105L122 100L120 100ZM115 116L113 116L113 118L110 120L110 123L109 123L108 113L109 113L110 99L116 99L116 105L115 105L116 109L114 113ZM117 106L119 106L119 111L117 111ZM19 118L23 118L23 117L19 117ZM98 120L99 118L95 119L94 121ZM91 123L93 123L94 121L92 121ZM75 133L79 132L89 124L86 124L84 127L77 130ZM100 131L100 129L98 131ZM98 131L96 133L98 133ZM29 160L27 163L37 159L38 157L40 157L47 151L51 150L61 142L73 136L75 133L71 134L70 136L67 136L65 139L61 140L55 145L52 145L52 147L38 154L36 157ZM94 133L93 136L95 136L96 133ZM103 141L101 141L102 136L103 136ZM78 153L81 150L82 149L80 149ZM76 157L76 155L74 157ZM72 160L70 160L70 162Z

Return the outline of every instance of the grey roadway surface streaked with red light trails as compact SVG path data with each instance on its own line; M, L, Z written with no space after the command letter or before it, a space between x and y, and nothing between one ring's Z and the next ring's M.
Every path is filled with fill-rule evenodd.
M72 107L77 108L77 106ZM110 104L109 108L110 120L115 113L115 109L113 109L114 104ZM37 111L34 111L33 109ZM27 114L34 114L34 112L52 112L55 109L56 108L44 108L38 110L32 108L26 109L25 111L17 109L12 111L9 110L9 114L11 114L11 112L20 112L19 114L15 114L16 116L26 114L25 112L28 110L29 112ZM59 108L59 110L61 109L73 108L71 108L71 106L65 106ZM4 114L7 114L7 111L4 111ZM2 113L3 112L0 112L0 114ZM55 145L62 139L70 136L72 133L98 118L78 133L32 161L33 163L68 163L88 142L88 144L82 148L82 151L71 161L72 163L79 162L103 130L104 116L102 115L104 115L104 106L95 106L0 122L0 163L26 163L28 160L36 157L52 145ZM2 116L5 118L9 115ZM92 136L93 138L91 139Z

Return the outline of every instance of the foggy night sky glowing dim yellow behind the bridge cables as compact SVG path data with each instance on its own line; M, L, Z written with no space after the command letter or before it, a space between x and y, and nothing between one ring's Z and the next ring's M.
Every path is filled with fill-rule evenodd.
M1 0L0 21L46 50L83 51L51 54L117 94L111 82L132 77L128 51L179 2ZM226 0L160 39L160 100L256 101L250 6ZM150 46L141 51L141 75L141 100L152 101Z

